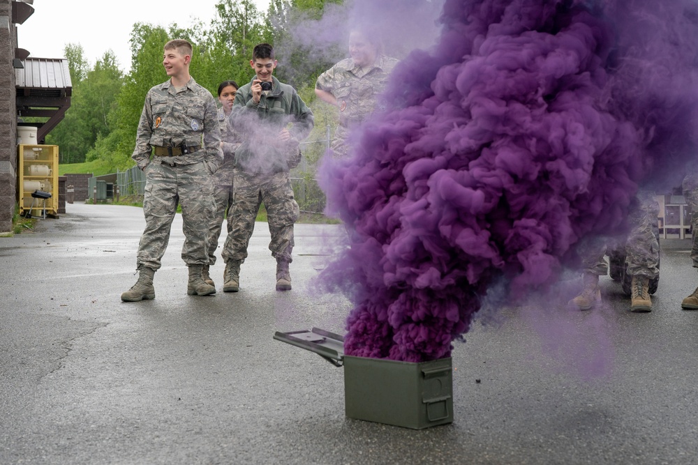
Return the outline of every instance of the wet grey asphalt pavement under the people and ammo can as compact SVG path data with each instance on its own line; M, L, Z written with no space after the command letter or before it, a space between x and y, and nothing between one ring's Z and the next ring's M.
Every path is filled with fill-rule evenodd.
M651 313L607 277L595 310L545 299L475 323L454 422L413 430L346 418L343 368L272 339L343 333L348 301L313 287L341 226L297 224L281 293L259 223L241 291L219 260L218 294L194 297L178 215L156 299L122 303L143 227L140 208L68 204L0 238L0 464L698 464L688 240L662 240Z

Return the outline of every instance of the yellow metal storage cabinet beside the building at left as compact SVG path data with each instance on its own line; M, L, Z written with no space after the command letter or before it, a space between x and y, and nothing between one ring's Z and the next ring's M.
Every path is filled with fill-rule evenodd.
M43 208L47 215L58 215L58 146L26 145L18 148L17 197L20 199L20 215L31 209L31 215L42 216ZM31 194L40 190L48 192L50 199L34 199Z

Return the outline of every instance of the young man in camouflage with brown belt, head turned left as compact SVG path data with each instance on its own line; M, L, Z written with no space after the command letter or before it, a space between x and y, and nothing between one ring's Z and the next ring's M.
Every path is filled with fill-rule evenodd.
M209 263L206 238L215 208L212 174L223 160L221 134L214 97L189 75L191 53L186 40L165 44L163 66L170 79L145 97L132 158L146 173L146 227L138 245L138 282L121 294L124 301L155 298L153 277L167 249L177 205L184 231L181 258L189 269L187 294L216 292L201 273Z

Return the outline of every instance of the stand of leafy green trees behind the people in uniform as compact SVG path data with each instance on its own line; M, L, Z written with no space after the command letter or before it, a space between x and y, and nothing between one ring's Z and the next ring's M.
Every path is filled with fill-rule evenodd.
M69 45L66 56L73 76L73 101L64 122L49 135L55 141L50 143L61 146L61 162L87 158L101 160L114 170L133 166L131 153L145 95L152 86L168 79L162 66L163 45L172 38L191 42L191 75L214 96L223 80L235 79L243 85L251 79L249 60L254 45L274 44L281 61L276 73L279 79L296 86L315 112L316 129L309 140L326 139L327 127L334 130L336 115L333 108L313 102L313 86L318 73L332 63L315 56L312 48L304 48L295 40L294 30L304 18L321 16L329 1L336 3L272 0L264 15L252 0L219 0L217 15L209 27L201 22L186 29L177 24L164 28L135 23L130 40L131 70L125 77L118 73L110 52L90 68L84 61L82 47ZM314 176L315 162L324 148L322 142L304 148L307 176Z

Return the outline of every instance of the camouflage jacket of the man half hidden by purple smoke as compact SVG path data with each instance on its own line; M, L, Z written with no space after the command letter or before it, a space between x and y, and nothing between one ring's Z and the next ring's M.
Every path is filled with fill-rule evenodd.
M373 66L363 68L351 58L343 59L318 76L315 89L332 93L339 107L339 125L351 128L376 108L376 98L385 90L397 63L394 58L380 55Z

